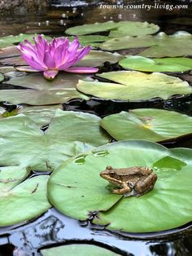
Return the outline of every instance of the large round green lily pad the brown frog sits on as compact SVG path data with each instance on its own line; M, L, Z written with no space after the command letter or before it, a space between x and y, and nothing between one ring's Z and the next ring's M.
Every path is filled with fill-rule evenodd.
M185 149L181 149L183 153ZM86 219L98 211L94 223L123 232L157 232L192 220L192 164L182 154L143 140L127 140L94 148L65 161L50 176L48 197L63 214ZM192 150L187 149L192 157ZM81 159L81 161L80 161ZM136 197L113 194L99 176L106 166L146 166L158 176L151 192ZM177 210L176 210L177 209ZM137 221L136 221L137 220Z

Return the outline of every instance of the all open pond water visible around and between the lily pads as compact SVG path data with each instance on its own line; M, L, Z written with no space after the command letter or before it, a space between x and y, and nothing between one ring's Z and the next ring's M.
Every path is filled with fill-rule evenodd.
M15 14L0 17L0 36L18 33L44 33L50 36L63 36L64 30L76 24L102 22L107 20L136 20L159 24L161 31L172 34L178 30L192 32L191 7L188 10L110 10L91 7L50 7L45 13ZM102 70L116 70L117 65L104 64ZM177 75L192 84L190 73ZM3 89L3 87L2 87ZM2 104L3 107L6 104ZM6 106L11 108L10 105ZM161 100L155 99L143 103L128 103L114 101L98 101L91 99L87 102L74 99L63 104L65 110L82 110L97 113L104 117L111 113L118 113L130 108L164 108L177 110L192 116L191 96ZM14 106L12 106L14 108ZM181 141L164 143L169 148L186 146L192 148L191 136ZM177 209L176 209L177 210ZM118 233L109 232L102 227L91 225L88 222L78 222L68 218L55 209L49 210L40 218L30 223L14 227L0 228L0 255L41 255L41 248L52 245L72 243L87 243L106 247L121 255L191 255L192 251L192 224L155 233Z

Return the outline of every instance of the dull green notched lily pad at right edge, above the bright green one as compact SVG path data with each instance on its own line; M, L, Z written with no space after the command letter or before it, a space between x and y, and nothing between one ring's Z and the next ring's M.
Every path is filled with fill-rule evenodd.
M158 33L156 36L144 35L138 37L113 38L100 45L107 51L149 47L139 55L151 58L178 57L192 55L192 35L186 32L177 32L172 35Z

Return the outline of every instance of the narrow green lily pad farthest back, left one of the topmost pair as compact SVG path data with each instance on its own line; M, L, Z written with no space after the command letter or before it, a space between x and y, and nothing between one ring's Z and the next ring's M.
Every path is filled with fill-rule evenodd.
M98 33L103 31L108 31L111 29L116 29L119 27L119 24L114 21L107 21L103 23L94 23L94 24L84 24L81 26L76 26L65 30L65 33L69 35L87 35L90 33Z

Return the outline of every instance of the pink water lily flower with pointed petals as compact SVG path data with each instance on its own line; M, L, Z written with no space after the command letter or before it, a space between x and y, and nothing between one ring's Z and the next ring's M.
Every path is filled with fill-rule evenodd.
M43 72L46 79L53 79L59 70L71 73L96 73L98 68L72 67L90 51L90 46L81 46L76 37L72 42L68 38L53 38L51 42L39 35L33 39L33 45L27 39L17 48L30 66L26 71ZM19 69L19 68L18 68Z

